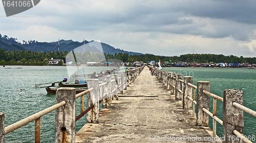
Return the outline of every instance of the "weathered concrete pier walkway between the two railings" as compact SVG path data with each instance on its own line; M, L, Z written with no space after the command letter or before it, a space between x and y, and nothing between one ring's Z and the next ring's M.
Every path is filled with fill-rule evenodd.
M184 136L202 140L188 141ZM86 124L76 133L75 142L212 142L204 137L212 137L211 129L197 127L192 110L182 109L181 100L175 100L145 67L111 108L100 110L99 124Z

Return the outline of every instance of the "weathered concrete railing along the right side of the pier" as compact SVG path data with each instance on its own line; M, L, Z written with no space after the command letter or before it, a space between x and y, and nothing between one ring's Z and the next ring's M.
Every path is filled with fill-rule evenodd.
M209 126L209 116L213 119L212 131L213 136L216 134L216 121L224 128L223 142L251 142L243 133L244 114L243 111L256 117L256 112L243 106L243 91L242 90L224 90L223 98L210 93L209 81L198 81L197 86L193 85L193 77L184 76L155 69L154 75L159 79L170 94L175 95L175 100L182 100L183 109L193 109L196 111L196 126ZM167 84L167 85L166 85ZM197 91L197 94L196 94ZM209 97L213 98L213 111L209 111ZM196 100L197 97L197 101ZM223 121L216 117L217 100L223 102ZM239 137L240 139L238 139ZM255 136L254 136L255 138Z

